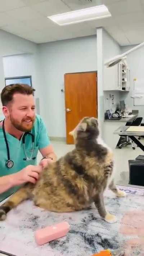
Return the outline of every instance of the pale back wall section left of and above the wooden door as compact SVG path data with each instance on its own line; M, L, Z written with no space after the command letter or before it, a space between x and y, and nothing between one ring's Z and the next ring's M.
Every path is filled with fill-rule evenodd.
M46 95L46 124L50 136L66 137L64 73L97 70L96 36L39 45L41 77Z

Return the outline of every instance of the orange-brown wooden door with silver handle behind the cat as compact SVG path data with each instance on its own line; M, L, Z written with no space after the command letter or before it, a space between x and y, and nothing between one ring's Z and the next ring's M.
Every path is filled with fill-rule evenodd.
M69 135L85 117L97 117L97 73L82 72L64 75L65 109L66 109L66 141L73 144Z

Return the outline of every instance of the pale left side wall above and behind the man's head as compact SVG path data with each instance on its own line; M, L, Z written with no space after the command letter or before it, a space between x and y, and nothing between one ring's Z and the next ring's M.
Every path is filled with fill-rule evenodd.
M5 86L4 77L31 75L35 96L40 98L40 114L45 120L45 84L40 66L37 44L0 30L0 91Z

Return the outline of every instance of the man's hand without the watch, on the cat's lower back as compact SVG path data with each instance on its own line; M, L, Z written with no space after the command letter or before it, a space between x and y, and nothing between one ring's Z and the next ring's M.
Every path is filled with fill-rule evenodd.
M37 165L37 166L28 165L21 171L12 175L14 186L21 185L27 182L31 182L35 184L40 177L41 171L42 171L42 166L40 165Z

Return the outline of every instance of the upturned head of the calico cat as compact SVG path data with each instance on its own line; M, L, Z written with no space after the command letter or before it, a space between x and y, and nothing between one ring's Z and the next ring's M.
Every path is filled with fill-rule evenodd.
M99 135L98 120L95 117L84 117L69 134L73 136L75 143L78 139L97 139Z

